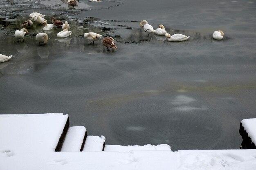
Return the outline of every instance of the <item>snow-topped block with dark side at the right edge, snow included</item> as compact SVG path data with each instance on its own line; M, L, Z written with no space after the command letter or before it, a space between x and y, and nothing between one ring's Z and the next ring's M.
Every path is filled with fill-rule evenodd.
M243 119L239 133L243 138L241 149L256 149L256 119Z

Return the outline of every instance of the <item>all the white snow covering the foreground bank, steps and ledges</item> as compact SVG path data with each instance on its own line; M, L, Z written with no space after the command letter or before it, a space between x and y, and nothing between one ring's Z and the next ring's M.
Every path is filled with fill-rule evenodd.
M256 150L178 150L106 145L104 152L54 152L68 115L0 115L0 170L255 170ZM255 119L243 126L255 137ZM85 132L71 127L70 137ZM73 132L72 132L73 131ZM102 149L104 136L88 136L88 148ZM87 140L87 139L86 139ZM76 140L79 141L79 140ZM81 141L81 139L80 139ZM72 144L72 142L68 142ZM96 145L95 145L96 144ZM77 144L74 144L77 146ZM100 146L100 147L99 147ZM64 146L65 148L66 146ZM94 150L93 149L93 150Z

